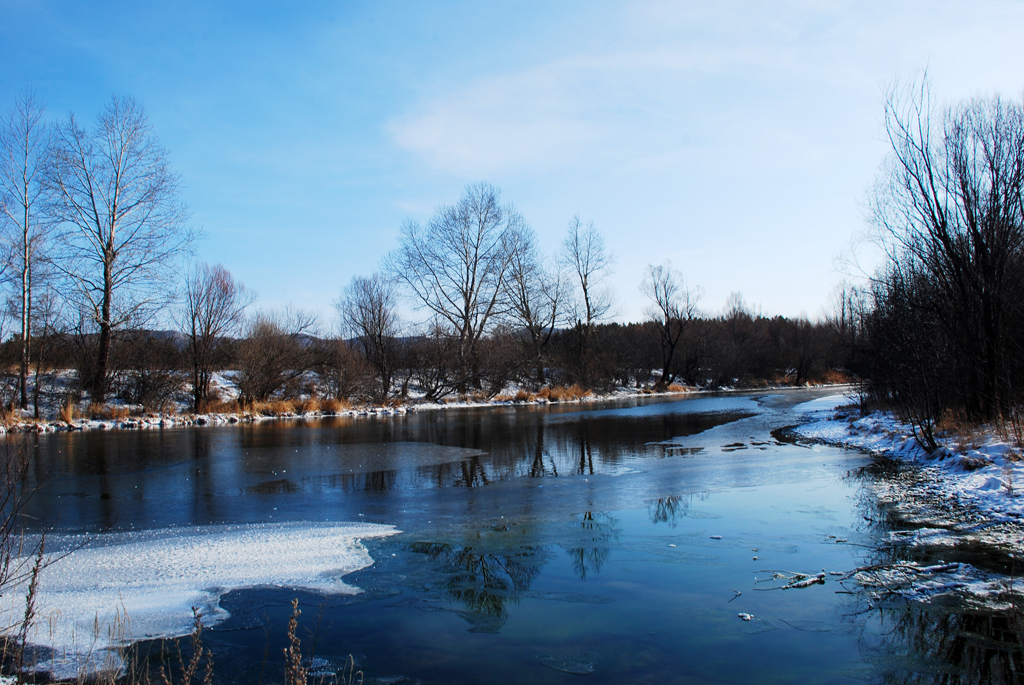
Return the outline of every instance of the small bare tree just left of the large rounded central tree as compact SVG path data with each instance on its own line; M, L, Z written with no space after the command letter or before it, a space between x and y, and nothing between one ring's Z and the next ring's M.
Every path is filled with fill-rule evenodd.
M398 335L397 288L381 273L355 276L338 301L343 326L358 340L367 361L377 373L379 397L391 392Z

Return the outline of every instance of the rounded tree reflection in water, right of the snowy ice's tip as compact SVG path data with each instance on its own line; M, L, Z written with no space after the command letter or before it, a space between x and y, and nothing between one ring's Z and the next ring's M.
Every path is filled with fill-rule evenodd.
M412 550L441 562L445 577L438 589L451 599L470 611L503 619L506 604L518 603L518 594L529 590L540 573L537 562L544 553L541 547L497 554L441 543L415 543Z

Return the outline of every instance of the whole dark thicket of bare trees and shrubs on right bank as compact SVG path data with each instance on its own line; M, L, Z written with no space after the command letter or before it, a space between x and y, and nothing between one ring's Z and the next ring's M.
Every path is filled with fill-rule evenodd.
M1024 406L1024 104L945 108L926 80L886 104L892 145L871 210L886 260L844 298L867 389L937 446L944 423Z

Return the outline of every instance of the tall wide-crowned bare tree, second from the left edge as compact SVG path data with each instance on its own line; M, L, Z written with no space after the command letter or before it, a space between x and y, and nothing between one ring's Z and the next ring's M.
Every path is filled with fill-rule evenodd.
M194 239L168 166L142 106L115 96L92 133L74 115L56 129L46 177L60 222L55 264L98 329L92 399L106 392L111 338L140 325L173 295L172 265Z

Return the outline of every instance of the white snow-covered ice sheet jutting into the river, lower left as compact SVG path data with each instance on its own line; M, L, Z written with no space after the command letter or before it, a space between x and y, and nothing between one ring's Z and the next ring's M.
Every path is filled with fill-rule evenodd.
M191 607L218 623L227 617L220 597L231 590L357 593L341 579L373 563L360 540L396 532L370 523L264 523L51 538L48 549L70 553L40 573L29 641L55 650L38 668L57 678L116 670L111 647L186 635ZM26 590L0 598L4 617L24 613Z

